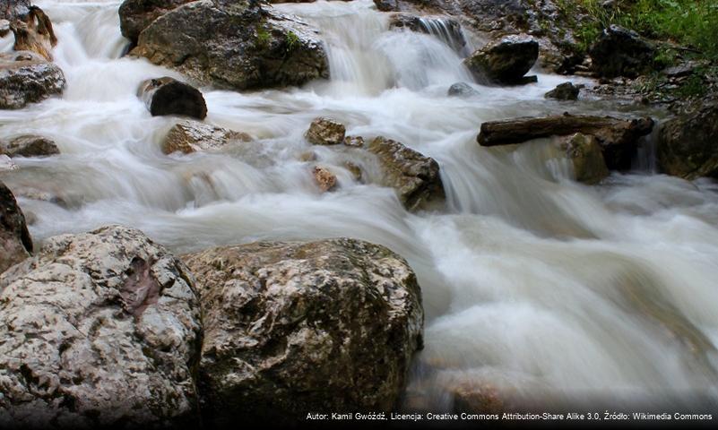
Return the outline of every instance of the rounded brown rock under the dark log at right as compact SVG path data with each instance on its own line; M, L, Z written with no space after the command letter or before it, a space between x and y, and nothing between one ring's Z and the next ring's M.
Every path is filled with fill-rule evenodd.
M601 144L595 136L575 133L560 139L558 149L571 160L576 181L594 185L609 176Z

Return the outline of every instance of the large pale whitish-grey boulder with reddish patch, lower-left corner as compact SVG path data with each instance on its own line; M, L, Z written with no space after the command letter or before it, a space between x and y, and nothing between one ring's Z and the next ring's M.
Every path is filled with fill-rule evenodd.
M200 305L131 228L56 236L0 276L0 426L198 426Z

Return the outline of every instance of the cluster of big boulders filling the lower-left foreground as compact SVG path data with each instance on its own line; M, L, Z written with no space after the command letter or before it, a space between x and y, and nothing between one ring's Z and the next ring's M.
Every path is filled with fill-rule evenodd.
M397 407L422 348L406 261L350 238L177 258L120 226L32 255L0 184L0 426L296 424Z

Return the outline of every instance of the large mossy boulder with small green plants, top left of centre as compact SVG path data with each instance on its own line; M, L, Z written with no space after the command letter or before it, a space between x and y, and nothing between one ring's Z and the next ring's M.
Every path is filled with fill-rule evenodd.
M258 2L201 0L151 22L131 54L221 88L298 85L329 75L317 34Z

